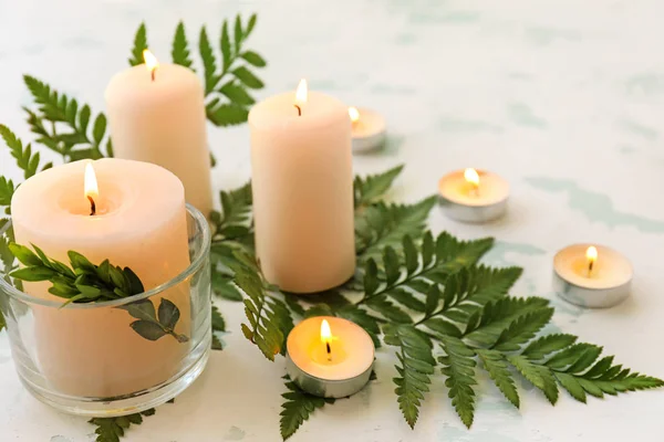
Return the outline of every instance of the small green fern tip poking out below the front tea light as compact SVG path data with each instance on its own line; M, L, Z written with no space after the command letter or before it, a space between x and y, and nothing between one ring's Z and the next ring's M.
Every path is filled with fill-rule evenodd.
M281 394L286 401L281 404L280 429L286 441L298 431L317 409L334 403L334 399L319 398L302 391L294 382L286 382L288 392Z

